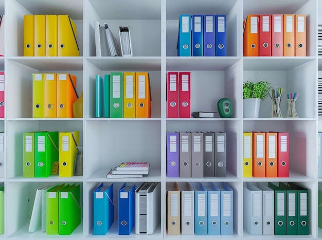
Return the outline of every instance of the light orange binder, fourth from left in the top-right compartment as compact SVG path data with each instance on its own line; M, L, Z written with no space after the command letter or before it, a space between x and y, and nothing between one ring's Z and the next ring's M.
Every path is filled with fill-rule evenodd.
M294 14L283 15L283 56L295 56Z

